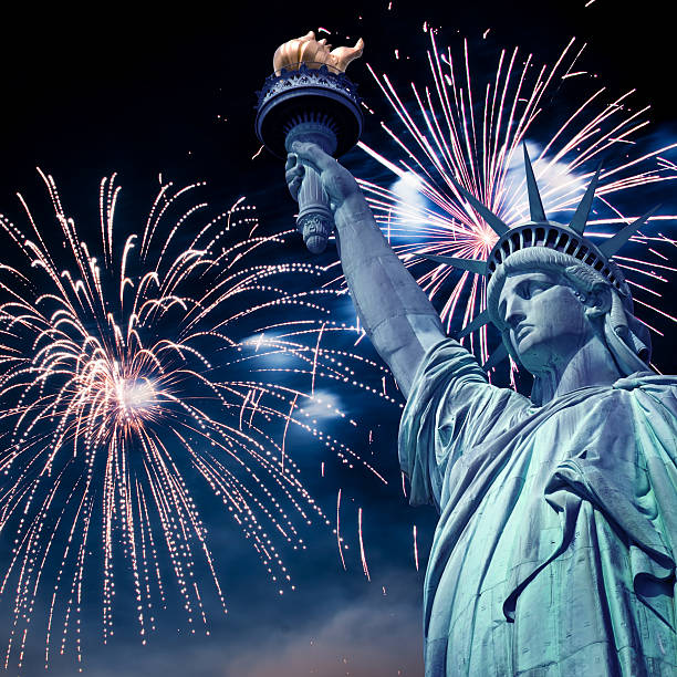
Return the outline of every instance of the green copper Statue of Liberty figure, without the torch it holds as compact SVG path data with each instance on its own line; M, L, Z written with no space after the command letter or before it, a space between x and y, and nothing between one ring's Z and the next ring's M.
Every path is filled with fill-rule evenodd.
M549 221L525 157L531 220L497 231L487 311L534 377L488 383L376 226L351 174L313 144L361 322L407 398L399 458L412 503L439 522L425 581L426 675L677 674L677 378L611 260L646 217L602 244L583 231L598 173L567 226ZM460 189L460 188L459 188ZM461 189L462 190L462 189Z

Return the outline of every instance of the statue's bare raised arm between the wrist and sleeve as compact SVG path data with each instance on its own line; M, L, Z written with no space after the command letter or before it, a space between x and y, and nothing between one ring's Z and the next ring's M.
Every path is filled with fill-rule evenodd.
M361 194L347 198L334 217L360 320L406 396L425 352L445 337L439 315L390 249Z

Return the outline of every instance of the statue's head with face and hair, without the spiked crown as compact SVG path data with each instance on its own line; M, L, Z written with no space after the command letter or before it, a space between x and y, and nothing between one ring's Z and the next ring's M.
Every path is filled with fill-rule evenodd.
M617 287L594 267L546 247L514 251L496 268L487 289L489 316L513 360L537 378L594 336L621 373L648 368L648 331L633 314L618 268L613 261L605 268Z

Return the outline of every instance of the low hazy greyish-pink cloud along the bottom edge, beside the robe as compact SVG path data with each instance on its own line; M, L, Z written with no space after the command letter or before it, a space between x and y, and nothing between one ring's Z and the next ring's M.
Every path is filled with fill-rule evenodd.
M343 604L317 623L320 611L304 621L294 614L285 629L271 629L264 610L258 629L238 636L195 637L184 633L175 642L153 639L142 647L129 637L85 656L88 677L413 677L423 675L420 600L393 601L381 589L367 598ZM335 602L335 600L334 600ZM326 612L322 612L326 614ZM256 616L256 610L252 610ZM314 617L313 617L314 616ZM29 656L34 674L41 657ZM71 677L74 656L55 655L50 675Z

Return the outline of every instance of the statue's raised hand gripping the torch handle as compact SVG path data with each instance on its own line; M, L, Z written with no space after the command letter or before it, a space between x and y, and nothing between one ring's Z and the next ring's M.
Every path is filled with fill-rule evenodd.
M294 199L303 181L303 164L309 165L320 175L332 210L338 209L350 196L360 194L360 187L353 175L331 155L324 153L320 146L294 142L285 166L287 185Z

